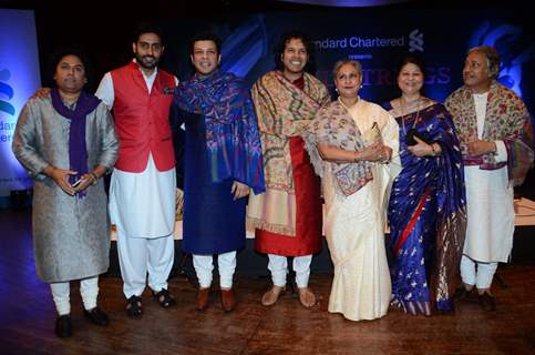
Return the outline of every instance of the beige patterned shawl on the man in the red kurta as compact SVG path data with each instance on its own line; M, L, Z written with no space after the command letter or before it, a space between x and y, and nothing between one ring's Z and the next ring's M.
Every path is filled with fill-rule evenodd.
M294 176L288 138L300 135L327 104L329 92L315 77L305 73L300 90L281 72L263 75L251 89L258 116L268 189L294 193Z

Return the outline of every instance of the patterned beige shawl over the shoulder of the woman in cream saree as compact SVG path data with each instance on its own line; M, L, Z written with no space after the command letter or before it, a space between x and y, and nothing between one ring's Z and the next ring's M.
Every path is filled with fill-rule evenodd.
M364 148L364 140L354 120L338 100L318 111L316 120L309 125L307 133L310 133L306 136L307 150L316 173L323 178L323 164L331 164L337 192L346 196L351 195L373 179L370 163L367 161L325 162L319 155L317 144L327 144L351 152Z

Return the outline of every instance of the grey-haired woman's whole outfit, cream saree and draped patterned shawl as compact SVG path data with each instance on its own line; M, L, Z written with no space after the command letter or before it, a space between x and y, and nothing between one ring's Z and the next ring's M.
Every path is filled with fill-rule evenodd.
M347 110L338 101L325 106L318 113L317 124L310 128L316 135L313 145L362 150L363 138L373 126L379 129L382 142L392 149L393 159L389 164L350 163L356 179L343 181L354 185L354 193L346 195L340 191L341 164L317 161L321 164L318 172L322 173L325 233L335 266L328 311L351 321L382 317L389 307L391 287L384 225L388 196L399 173L399 128L381 106L361 99Z

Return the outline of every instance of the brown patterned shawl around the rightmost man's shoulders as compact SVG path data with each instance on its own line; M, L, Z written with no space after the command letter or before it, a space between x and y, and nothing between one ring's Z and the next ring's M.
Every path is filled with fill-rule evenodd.
M482 170L503 168L505 163L497 163L494 154L467 156L466 144L477 139L477 119L472 91L466 87L457 89L447 98L445 106L457 129L463 159L477 161ZM488 91L482 140L501 140L505 143L510 181L513 185L522 184L534 159L532 121L522 99L496 81L491 84Z

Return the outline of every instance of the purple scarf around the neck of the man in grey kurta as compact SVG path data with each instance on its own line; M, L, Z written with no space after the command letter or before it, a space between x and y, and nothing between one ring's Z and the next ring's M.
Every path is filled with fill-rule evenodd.
M70 169L75 171L76 174L69 176L69 183L73 184L89 171L88 148L85 144L85 116L96 109L101 100L95 95L82 91L78 98L76 109L71 110L65 106L61 100L58 88L53 88L50 91L50 95L52 98L54 110L71 121L71 129L69 132L69 162Z

